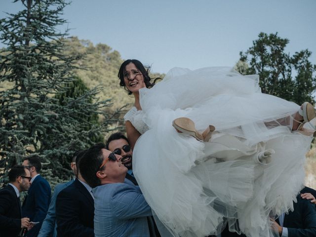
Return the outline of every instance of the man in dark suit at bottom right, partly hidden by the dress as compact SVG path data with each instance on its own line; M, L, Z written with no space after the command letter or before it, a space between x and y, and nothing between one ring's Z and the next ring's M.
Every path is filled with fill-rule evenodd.
M305 192L302 190L301 192ZM294 210L282 214L273 222L273 228L280 237L315 237L316 236L316 207L308 199L297 196L293 203Z

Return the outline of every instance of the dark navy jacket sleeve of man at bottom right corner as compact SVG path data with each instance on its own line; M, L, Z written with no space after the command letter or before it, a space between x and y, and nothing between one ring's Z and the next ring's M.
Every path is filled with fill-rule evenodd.
M287 228L289 237L315 237L316 236L316 207L309 200L303 200L300 205L301 218L304 228Z

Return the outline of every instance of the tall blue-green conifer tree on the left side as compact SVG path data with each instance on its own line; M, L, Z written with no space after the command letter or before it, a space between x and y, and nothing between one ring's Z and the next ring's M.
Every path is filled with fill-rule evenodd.
M0 51L0 83L11 85L0 91L0 182L32 154L40 155L47 175L66 180L73 153L94 144L115 119L104 112L109 100L96 98L99 87L70 94L82 55L64 54L68 31L56 30L66 22L60 15L69 3L21 2L24 10L0 19L0 40L7 45Z

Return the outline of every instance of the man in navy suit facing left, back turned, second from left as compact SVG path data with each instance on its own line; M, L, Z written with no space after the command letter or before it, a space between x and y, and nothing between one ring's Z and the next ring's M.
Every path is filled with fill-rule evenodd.
M22 206L23 217L29 217L33 222L39 222L25 236L37 237L48 210L51 190L48 182L40 176L41 163L38 156L25 158L22 165L29 169L32 177L28 196Z

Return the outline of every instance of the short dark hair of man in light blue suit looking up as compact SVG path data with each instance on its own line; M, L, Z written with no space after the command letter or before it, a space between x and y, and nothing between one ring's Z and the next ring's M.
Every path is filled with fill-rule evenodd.
M100 165L103 162L102 149L105 149L103 143L95 144L93 147L85 150L79 161L80 174L91 188L101 184L96 172L100 169Z

